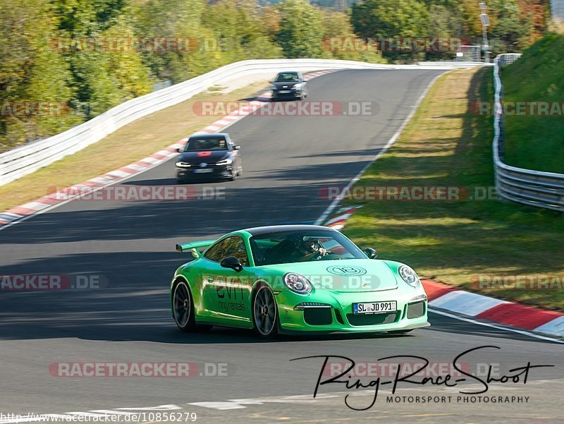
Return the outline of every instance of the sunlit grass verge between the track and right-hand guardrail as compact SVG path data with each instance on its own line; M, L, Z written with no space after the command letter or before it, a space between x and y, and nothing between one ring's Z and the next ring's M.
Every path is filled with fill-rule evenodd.
M398 141L355 187L462 186L472 195L493 186L492 118L469 111L471 102L492 97L491 68L446 73L431 87ZM474 283L485 274L564 274L560 214L470 198L345 200L345 205L362 203L343 231L359 246L376 248L379 258L405 262L422 278L564 310L562 289L492 289Z

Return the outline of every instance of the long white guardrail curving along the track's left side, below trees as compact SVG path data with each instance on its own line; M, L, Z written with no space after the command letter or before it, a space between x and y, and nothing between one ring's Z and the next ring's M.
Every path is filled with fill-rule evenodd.
M467 66L476 66L476 64L469 63ZM264 59L231 63L183 83L128 100L64 133L2 153L0 155L0 186L31 174L67 155L72 155L136 119L184 102L212 85L228 79L252 73L274 73L281 68L314 71L318 69L436 69L437 67L440 65L396 66L324 59ZM454 66L446 63L442 67L452 68Z

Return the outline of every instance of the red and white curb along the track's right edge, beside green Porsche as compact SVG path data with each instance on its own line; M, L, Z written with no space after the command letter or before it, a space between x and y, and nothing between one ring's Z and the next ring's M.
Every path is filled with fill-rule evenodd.
M341 207L323 225L340 230L345 226L346 220L360 207L362 205ZM458 290L436 281L424 279L421 282L429 298L429 308L434 310L527 332L564 337L562 313L501 301L482 294Z

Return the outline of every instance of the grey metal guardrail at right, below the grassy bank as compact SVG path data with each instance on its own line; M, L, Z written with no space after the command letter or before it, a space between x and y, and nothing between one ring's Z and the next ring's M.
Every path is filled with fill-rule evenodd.
M517 168L503 162L503 85L499 78L501 66L516 61L520 54L500 54L494 60L495 116L494 168L496 189L501 198L524 205L564 212L564 175L553 172Z

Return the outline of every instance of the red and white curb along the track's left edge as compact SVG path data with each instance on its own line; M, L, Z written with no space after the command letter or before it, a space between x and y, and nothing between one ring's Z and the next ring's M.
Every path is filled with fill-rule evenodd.
M335 70L326 69L323 71L317 71L312 73L307 73L307 78L311 80L312 78L318 77L320 75L326 75L327 73L333 73ZM259 97L268 98L270 97L270 92L264 92ZM229 114L227 116L223 116L221 119L218 119L214 123L209 124L200 133L216 133L219 132L228 126L231 126L236 121L243 119L245 116L252 114L253 111L260 109L260 107L264 106L265 102L260 100L252 100L248 104L240 107L237 111ZM32 217L35 214L39 214L42 212L47 212L48 210L53 209L54 207L61 206L66 202L70 202L77 198L80 194L83 193L84 190L100 190L104 187L111 186L113 184L119 183L121 181L125 181L132 176L137 174L141 174L142 172L147 171L148 169L152 169L157 165L162 164L163 162L172 159L173 157L178 156L178 152L176 149L183 147L188 138L183 138L179 140L177 143L170 145L163 150L159 150L159 152L154 153L149 157L145 157L145 159L141 159L133 164L129 164L127 166L123 166L120 169L116 169L114 171L110 171L107 174L97 176L96 178L91 178L88 181L83 183L75 184L74 186L66 187L66 188L54 188L54 193L48 193L47 195L43 196L42 198L36 199L32 202L27 202L25 205L20 205L18 207L13 207L9 210L4 212L0 212L0 230L6 229L13 224L17 224L18 222L23 222L25 219ZM62 193L77 193L76 195L58 195L56 190L60 190Z

